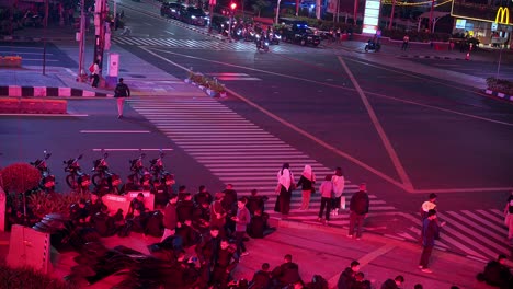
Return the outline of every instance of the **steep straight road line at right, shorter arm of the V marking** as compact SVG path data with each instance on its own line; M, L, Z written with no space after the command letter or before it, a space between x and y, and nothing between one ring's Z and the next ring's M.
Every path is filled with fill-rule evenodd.
M347 77L350 78L351 82L353 83L354 88L356 89L356 92L360 94L360 97L362 99L362 102L365 105L365 108L367 108L368 116L371 117L371 120L374 124L374 127L376 128L379 137L381 138L383 144L385 146L385 149L388 152L388 155L390 157L394 166L397 170L397 173L399 174L399 177L402 181L402 184L404 184L407 190L412 190L413 189L413 184L410 181L410 177L408 177L408 174L404 170L404 167L401 164L401 161L399 160L399 157L397 155L396 150L391 146L390 140L388 139L387 134L385 134L385 129L383 128L381 124L379 123L379 119L377 118L376 113L374 112L373 106L368 102L367 96L363 92L362 88L360 86L358 82L353 76L353 72L349 69L349 67L345 65L345 61L342 59L342 57L338 57L340 63L345 70L345 73L347 73Z

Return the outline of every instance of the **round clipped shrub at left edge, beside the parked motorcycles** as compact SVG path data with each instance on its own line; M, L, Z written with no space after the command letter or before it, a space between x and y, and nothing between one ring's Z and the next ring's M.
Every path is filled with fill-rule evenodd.
M22 194L37 187L41 173L27 163L13 163L5 166L0 175L3 189L9 193Z

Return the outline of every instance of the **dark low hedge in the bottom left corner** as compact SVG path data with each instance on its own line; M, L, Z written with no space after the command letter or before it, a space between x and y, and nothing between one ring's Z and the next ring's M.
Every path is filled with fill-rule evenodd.
M52 278L32 268L10 268L0 265L0 288L76 289L76 285Z

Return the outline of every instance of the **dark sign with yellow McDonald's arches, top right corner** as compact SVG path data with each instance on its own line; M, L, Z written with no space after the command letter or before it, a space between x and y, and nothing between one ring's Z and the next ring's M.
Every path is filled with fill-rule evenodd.
M451 15L455 18L472 19L486 22L513 25L512 1L502 1L499 5L489 5L488 0L454 0Z

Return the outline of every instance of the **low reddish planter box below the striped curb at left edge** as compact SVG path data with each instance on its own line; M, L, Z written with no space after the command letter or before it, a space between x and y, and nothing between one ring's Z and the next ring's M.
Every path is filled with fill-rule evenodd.
M39 99L0 99L0 113L66 114L67 101Z

